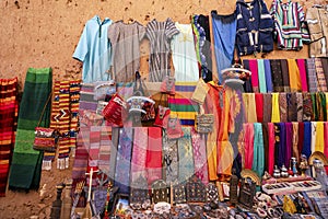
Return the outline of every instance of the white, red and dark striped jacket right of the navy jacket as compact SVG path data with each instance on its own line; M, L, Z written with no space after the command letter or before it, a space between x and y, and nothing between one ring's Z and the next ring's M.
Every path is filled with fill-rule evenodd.
M289 0L283 3L282 0L273 0L270 13L274 19L278 48L300 50L303 43L309 43L304 11L300 2Z

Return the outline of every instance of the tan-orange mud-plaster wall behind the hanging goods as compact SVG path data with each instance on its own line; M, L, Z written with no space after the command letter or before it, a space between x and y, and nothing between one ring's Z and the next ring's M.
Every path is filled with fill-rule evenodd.
M269 7L272 1L266 0ZM302 0L305 8L314 0ZM235 1L229 0L0 0L0 78L19 77L23 87L28 67L51 67L54 80L79 79L81 64L71 58L87 20L98 14L113 21L137 20L145 25L152 19L172 18L189 23L191 14L232 13ZM141 72L147 74L149 42L141 45ZM305 46L301 51L274 50L266 58L307 58ZM246 57L247 58L247 57ZM254 58L250 56L249 58ZM72 161L71 161L72 163ZM70 165L71 166L71 165ZM71 176L71 170L44 171L39 191L11 192L0 198L0 218L49 218L56 198L56 184Z

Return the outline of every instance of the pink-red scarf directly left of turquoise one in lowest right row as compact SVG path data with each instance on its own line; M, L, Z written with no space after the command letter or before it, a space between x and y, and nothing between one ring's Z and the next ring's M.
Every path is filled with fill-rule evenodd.
M254 158L254 126L251 123L245 124L245 136L244 136L244 146L245 146L245 169L250 169L253 165Z

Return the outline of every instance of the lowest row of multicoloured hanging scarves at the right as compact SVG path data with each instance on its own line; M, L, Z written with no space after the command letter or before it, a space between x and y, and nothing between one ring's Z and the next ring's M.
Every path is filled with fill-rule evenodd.
M265 170L272 174L274 164L289 168L292 157L300 161L301 154L309 158L314 151L328 155L327 131L327 122L246 123L239 149L243 166L261 177Z

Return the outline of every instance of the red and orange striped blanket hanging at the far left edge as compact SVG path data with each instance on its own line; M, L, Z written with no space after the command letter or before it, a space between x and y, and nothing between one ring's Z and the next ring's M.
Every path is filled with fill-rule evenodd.
M0 79L0 197L5 196L17 111L17 78Z

